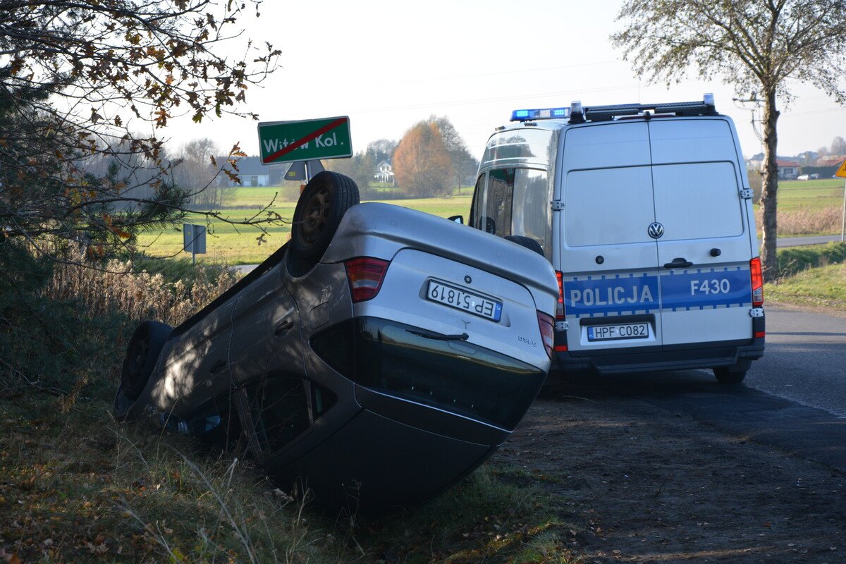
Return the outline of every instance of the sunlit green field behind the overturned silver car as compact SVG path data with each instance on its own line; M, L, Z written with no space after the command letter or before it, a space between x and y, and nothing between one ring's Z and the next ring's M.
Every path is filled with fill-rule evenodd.
M244 218L255 216L259 208L268 205L279 189L277 188L237 188L229 194L226 200L228 209L221 215L232 221L243 221ZM470 191L466 194L450 198L426 198L417 200L383 200L388 204L402 205L413 210L425 211L435 216L449 217L467 216L470 211ZM234 208L232 206L244 206ZM275 201L272 211L290 220L294 215L293 201ZM186 223L205 224L203 216L189 217ZM268 228L263 244L258 238L261 232L255 227L234 226L221 220L212 220L208 225L206 237L206 255L198 255L197 259L214 264L250 265L265 260L274 250L288 241L290 226L277 225ZM182 232L169 230L164 232L147 232L139 237L139 250L149 256L188 256L182 252Z

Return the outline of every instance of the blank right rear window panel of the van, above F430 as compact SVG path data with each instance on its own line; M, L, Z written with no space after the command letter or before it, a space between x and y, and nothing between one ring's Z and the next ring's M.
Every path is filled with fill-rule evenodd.
M735 237L744 232L737 175L730 162L652 167L662 241Z

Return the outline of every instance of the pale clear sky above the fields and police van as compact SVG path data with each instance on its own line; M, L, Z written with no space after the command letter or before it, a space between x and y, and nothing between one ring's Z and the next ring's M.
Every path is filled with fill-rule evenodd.
M282 56L277 71L248 90L245 109L263 122L349 116L354 151L399 140L431 115L447 116L479 158L517 108L693 101L711 92L717 112L733 118L744 155L760 152L751 106L733 101L732 86L690 74L667 89L634 74L608 39L621 26L621 4L266 0L260 18L241 23L246 36L270 41ZM779 104L780 156L846 137L846 107L821 90L790 86L794 101ZM178 118L166 136L172 148L209 137L223 151L239 142L258 153L256 123L246 119Z

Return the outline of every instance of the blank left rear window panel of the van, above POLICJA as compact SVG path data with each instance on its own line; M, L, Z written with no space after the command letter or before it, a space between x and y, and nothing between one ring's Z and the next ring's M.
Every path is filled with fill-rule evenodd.
M571 171L564 182L564 241L568 246L652 240L647 234L649 224L655 221L650 167Z

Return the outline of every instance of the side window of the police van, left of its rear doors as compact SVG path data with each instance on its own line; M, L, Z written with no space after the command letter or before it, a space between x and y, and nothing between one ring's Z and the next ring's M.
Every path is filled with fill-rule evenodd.
M483 180L480 177L476 183L473 227L500 237L533 238L550 258L552 194L547 172L534 168L497 168L487 173L484 185Z

